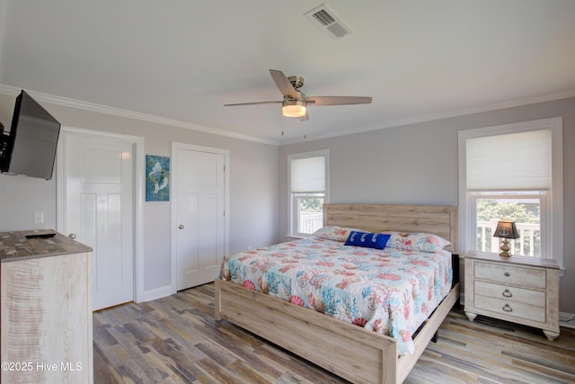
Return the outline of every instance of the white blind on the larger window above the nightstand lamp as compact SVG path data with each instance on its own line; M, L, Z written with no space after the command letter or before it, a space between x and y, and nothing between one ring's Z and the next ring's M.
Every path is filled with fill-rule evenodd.
M467 138L467 191L551 189L551 129Z

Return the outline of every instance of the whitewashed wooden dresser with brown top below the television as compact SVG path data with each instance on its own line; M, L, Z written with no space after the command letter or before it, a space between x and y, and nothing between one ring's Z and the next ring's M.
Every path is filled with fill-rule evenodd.
M93 382L92 248L54 233L0 233L2 382Z

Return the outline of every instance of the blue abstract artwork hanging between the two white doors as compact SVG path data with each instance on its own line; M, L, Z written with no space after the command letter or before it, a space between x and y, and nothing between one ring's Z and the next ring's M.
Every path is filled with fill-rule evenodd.
M146 201L170 201L170 157L146 155Z

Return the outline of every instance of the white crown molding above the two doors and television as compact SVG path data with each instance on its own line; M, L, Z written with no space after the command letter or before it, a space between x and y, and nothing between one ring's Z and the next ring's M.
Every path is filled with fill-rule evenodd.
M13 87L10 85L0 85L0 94L5 94L5 95L15 97L18 94L20 94L20 92L21 92L21 88L16 88L16 87ZM167 119L167 118L154 116L154 115L141 113L141 112L122 110L119 108L114 108L114 107L110 107L110 106L102 105L102 104L82 102L79 100L70 99L70 98L62 97L62 96L57 96L54 94L42 94L40 92L35 92L35 91L28 90L28 89L26 89L26 92L28 94L31 94L31 96L34 97L34 99L36 99L37 101L43 102L43 103L61 105L61 106L65 106L65 107L70 107L70 108L75 108L75 109L90 111L90 112L104 113L104 114L109 114L112 116L119 116L119 117L123 117L123 118L127 118L127 119L147 121L147 122L167 125L167 126L175 127L175 128L190 129L190 130L195 130L198 132L209 133L212 135L224 136L227 138L238 138L240 140L252 141L252 142L261 143L261 144L268 144L271 146L279 146L279 142L276 140L270 140L270 139L265 139L265 138L256 138L256 137L252 137L252 136L248 136L248 135L242 135L239 133L230 132L230 131L225 130L225 129L217 129L217 128L212 128L212 127L207 127L204 125L199 125L199 124L187 122L187 121L177 121L177 120L173 120L173 119Z

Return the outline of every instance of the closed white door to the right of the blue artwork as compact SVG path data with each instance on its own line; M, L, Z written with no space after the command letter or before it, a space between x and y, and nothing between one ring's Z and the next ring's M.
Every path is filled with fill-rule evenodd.
M173 150L176 289L217 278L226 252L226 156Z

